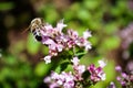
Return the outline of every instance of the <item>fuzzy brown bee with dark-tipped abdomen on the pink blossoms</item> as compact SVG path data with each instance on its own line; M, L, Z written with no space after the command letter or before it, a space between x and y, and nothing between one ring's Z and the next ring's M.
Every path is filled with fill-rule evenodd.
M35 18L31 21L30 26L27 30L30 29L34 38L40 42L40 41L42 41L42 35L41 35L41 32L40 32L42 26L43 26L43 20L41 18Z

